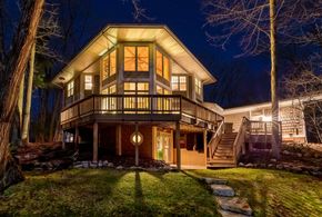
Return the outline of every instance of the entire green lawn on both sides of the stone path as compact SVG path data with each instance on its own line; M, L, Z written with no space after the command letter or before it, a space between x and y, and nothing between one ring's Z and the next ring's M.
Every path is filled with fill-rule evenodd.
M212 195L194 177L229 180L255 216L322 216L322 181L265 169L143 172L71 169L28 174L4 191L0 216L217 216Z

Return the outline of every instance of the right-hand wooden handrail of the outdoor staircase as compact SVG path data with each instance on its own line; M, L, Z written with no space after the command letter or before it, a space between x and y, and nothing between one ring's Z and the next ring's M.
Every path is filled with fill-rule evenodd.
M245 135L249 121L250 120L246 117L243 117L242 122L239 127L238 135L233 141L233 159L235 165L238 164L241 148L243 148L244 151Z

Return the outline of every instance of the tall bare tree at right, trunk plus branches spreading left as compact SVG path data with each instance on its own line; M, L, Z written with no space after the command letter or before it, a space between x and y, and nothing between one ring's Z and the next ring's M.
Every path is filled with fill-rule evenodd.
M204 0L207 23L222 30L220 36L208 33L215 45L224 48L232 37L240 36L240 45L244 51L242 55L258 55L270 49L272 150L276 158L280 158L276 92L276 10L280 8L275 0Z

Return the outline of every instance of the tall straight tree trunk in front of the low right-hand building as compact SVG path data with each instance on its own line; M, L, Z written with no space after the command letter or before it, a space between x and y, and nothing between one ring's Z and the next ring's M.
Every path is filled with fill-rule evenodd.
M279 136L279 99L276 91L276 2L270 1L270 42L271 42L271 100L272 100L272 151L275 158L280 158L280 136Z

